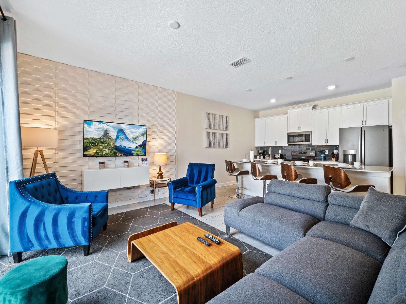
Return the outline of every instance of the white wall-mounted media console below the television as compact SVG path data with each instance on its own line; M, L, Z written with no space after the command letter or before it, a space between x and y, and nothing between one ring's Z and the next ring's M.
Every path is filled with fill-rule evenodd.
M149 167L82 169L82 190L100 191L149 184Z

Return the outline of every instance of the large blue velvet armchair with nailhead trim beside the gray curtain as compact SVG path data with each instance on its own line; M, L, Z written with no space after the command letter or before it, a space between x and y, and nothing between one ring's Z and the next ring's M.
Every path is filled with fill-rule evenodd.
M22 252L83 245L107 229L108 191L82 192L60 183L56 173L10 182L10 251Z

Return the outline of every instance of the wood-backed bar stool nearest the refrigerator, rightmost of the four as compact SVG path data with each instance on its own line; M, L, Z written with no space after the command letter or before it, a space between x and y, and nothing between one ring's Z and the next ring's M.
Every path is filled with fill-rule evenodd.
M323 165L324 182L333 190L346 193L367 192L374 185L353 185L345 170L339 167Z

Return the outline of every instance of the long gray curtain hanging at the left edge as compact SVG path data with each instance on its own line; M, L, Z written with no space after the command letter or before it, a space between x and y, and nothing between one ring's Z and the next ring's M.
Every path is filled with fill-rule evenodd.
M23 177L15 21L11 17L0 19L0 110L0 255L8 255L9 182Z

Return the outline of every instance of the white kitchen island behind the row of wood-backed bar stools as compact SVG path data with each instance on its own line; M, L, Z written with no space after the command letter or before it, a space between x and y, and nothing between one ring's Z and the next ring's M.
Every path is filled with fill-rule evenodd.
M282 178L281 165L280 164L269 164L264 160L255 159L255 163L258 164L259 170L261 172L269 172L278 176L278 179L285 180ZM251 163L235 161L233 162L235 167L240 170L248 170L251 172ZM293 164L291 162L285 162L288 164ZM329 166L335 166L335 164L327 164ZM313 166L309 166L306 163L305 166L294 166L298 174L302 175L304 178L316 178L317 184L324 184L324 172L323 163L316 163ZM360 169L346 169L348 177L351 180L351 184L371 184L376 187L376 190L390 193L391 192L391 173L393 167L377 167L377 166L363 166ZM247 188L248 190L242 191L242 193L253 196L262 196L262 186L263 183L259 180L254 180L250 175L242 176L242 182L240 186ZM365 194L365 193L358 193Z

